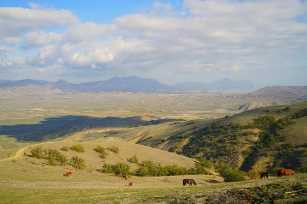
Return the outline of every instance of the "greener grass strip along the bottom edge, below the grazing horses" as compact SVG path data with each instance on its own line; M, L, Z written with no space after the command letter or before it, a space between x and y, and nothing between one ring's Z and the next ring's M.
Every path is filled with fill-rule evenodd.
M184 203L183 201L192 199L202 200L209 195L211 195L213 199L216 198L217 192L218 195L225 194L225 196L228 195L229 199L240 198L241 201L244 199L252 201L253 196L260 196L260 198L257 197L257 199L261 200L262 198L266 198L266 195L274 199L280 199L282 198L280 195L284 194L284 190L293 190L290 186L296 186L296 188L306 186L307 180L304 179L305 177L306 174L298 174L295 176L282 177L281 179L254 180L192 187L178 186L172 188L77 188L76 186L75 188L58 189L36 188L35 186L27 188L1 186L0 200L1 203ZM155 184L153 184L153 186L155 186ZM263 190L261 190L262 188ZM304 190L306 191L306 189ZM272 191L271 194L273 196L275 195L275 197L270 196L270 191ZM307 191L305 193L306 194L303 194L303 196L307 195ZM218 200L212 199L211 202L205 199L203 202L224 203L222 200L219 202ZM304 200L304 197L300 199Z

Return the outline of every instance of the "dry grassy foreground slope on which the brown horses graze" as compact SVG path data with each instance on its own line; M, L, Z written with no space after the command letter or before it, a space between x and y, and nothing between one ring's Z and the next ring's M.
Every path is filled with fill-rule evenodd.
M23 156L14 162L0 162L1 203L169 203L184 197L196 197L201 201L211 193L233 188L289 182L307 185L304 180L306 174L238 183L223 183L221 177L213 175L133 176L126 181L97 171L90 173L69 167L52 167L42 164L42 160L27 161L26 158ZM72 171L73 176L63 177L67 171ZM198 185L182 186L182 179L186 177L193 178ZM127 187L129 182L133 182L134 186Z

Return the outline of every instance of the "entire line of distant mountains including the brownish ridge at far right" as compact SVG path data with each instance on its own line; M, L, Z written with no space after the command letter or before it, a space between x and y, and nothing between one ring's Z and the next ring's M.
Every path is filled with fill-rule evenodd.
M254 91L249 81L233 81L223 79L205 84L201 82L182 82L175 85L165 85L156 79L144 79L137 76L114 77L105 81L84 82L74 84L65 80L48 82L41 80L1 80L1 93L35 94L40 92L145 92L174 93L198 90L202 92L245 92L247 96L259 97L290 97L298 100L307 99L307 86L267 86ZM242 95L242 94L240 94Z

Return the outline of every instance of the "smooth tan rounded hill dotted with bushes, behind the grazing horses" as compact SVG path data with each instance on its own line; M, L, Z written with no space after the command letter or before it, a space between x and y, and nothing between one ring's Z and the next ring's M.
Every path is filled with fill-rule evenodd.
M60 148L64 145L72 146L74 144L82 144L86 151L85 152L76 152L76 151L63 151ZM93 150L97 145L103 146L105 148L113 145L119 146L119 153L115 154L112 151L106 150L107 156L105 159L101 159L99 154ZM90 141L90 142L54 142L54 143L45 143L42 144L43 148L55 148L64 153L71 158L74 155L77 155L85 159L85 163L89 165L90 168L101 169L104 163L116 164L118 162L123 162L128 164L131 167L131 170L138 168L136 164L127 162L127 159L136 155L140 162L143 160L152 160L155 163L161 163L161 165L174 165L182 166L185 168L190 168L194 166L194 161L191 158L184 157L182 155L173 154L167 151L160 149L155 149L139 144L113 140L112 138L101 139L100 141ZM27 154L30 153L31 147L24 150ZM21 152L23 154L23 152Z

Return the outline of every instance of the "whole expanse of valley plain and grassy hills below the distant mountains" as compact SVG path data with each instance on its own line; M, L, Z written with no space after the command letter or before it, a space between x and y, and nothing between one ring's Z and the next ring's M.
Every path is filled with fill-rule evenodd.
M287 94L11 92L1 97L0 102L0 166L4 173L0 189L8 189L20 203L28 202L21 202L19 196L30 198L23 188L41 195L35 198L38 202L41 199L57 203L97 203L98 199L105 203L109 199L112 200L109 203L171 203L185 199L209 202L208 195L230 192L234 185L243 189L276 182L282 185L289 179L298 182L304 175L277 179L274 173L277 167L304 172L307 158L304 115L291 119L280 130L275 143L263 139L261 131L265 129L248 126L258 124L259 117L270 115L280 120L307 108L302 99ZM262 140L263 146L255 151ZM61 150L62 146L77 144L84 146L85 152ZM31 149L35 146L56 149L68 157L67 164L53 166L47 159L33 158ZM93 150L97 146L106 149L104 159ZM111 146L118 146L119 154L107 150ZM72 166L69 159L74 156L84 159L84 170ZM128 162L133 156L138 163ZM203 160L214 165L202 163ZM144 161L152 161L158 169L185 169L187 175L140 176L139 168ZM126 189L128 181L104 172L105 165L118 163L129 166L128 181L134 183L133 189ZM196 173L200 164L205 165L201 174ZM246 172L268 170L270 179L227 183L220 174L221 164ZM68 171L73 176L63 177ZM11 173L19 176L10 176ZM193 178L198 185L183 187L182 179L186 177ZM151 193L143 192L146 188ZM48 189L57 191L58 196L49 194ZM63 200L61 192L68 189L79 196ZM127 194L131 197L123 201L121 197L127 198ZM6 200L4 203L14 202L6 194L0 194L0 198Z

